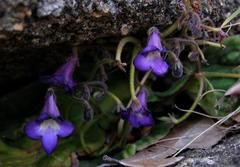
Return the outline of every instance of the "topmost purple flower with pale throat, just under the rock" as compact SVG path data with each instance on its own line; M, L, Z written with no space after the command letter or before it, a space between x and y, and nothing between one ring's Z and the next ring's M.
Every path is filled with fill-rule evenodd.
M135 57L133 64L139 71L149 71L155 75L163 76L168 71L168 64L161 57L165 52L159 37L159 31L153 27L150 33L147 46Z

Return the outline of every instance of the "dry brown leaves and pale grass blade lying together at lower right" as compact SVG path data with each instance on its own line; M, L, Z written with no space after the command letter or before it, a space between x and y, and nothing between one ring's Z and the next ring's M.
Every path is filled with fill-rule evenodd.
M207 149L217 144L228 132L227 128L219 125L237 114L239 109L240 107L216 123L210 118L187 120L176 126L165 138L137 152L132 157L116 160L105 156L104 160L129 167L165 167L173 165L184 158L183 156L176 156L186 148Z

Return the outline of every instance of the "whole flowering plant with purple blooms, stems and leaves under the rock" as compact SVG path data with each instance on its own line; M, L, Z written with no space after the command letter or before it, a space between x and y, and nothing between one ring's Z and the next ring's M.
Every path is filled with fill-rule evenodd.
M127 158L165 137L193 113L218 120L234 111L239 104L239 84L226 89L240 78L238 67L210 65L222 58L215 55L207 60L202 48L224 50L229 46L232 40L223 41L231 27L239 24L230 22L240 8L216 27L210 18L199 16L199 1L183 0L179 7L182 15L170 27L161 32L157 27L148 30L144 46L145 42L135 37L123 37L115 59L97 60L90 80L79 82L79 75L74 75L81 65L74 47L72 56L54 74L41 77L53 87L46 93L41 114L25 124L25 134L41 140L46 153L55 157L67 150L80 158L104 154ZM239 37L232 39L239 44ZM125 63L122 57L127 43L134 47ZM239 51L238 47L235 52ZM119 75L120 71L129 79ZM182 95L187 97L181 99ZM58 144L58 139L65 137L69 138ZM31 156L36 156L40 145L32 145L36 149L30 151Z

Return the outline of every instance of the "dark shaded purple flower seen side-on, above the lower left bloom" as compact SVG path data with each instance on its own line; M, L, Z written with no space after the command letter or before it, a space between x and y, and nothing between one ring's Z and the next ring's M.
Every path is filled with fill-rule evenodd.
M78 58L76 56L71 56L53 75L44 76L41 80L44 83L63 87L65 91L71 91L76 86L76 82L72 79L72 76L77 61Z

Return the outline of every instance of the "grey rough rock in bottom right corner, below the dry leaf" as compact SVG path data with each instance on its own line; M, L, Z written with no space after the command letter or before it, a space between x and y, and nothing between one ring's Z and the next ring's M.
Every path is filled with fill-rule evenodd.
M225 138L207 150L189 150L181 154L185 157L175 167L239 167L240 134Z

